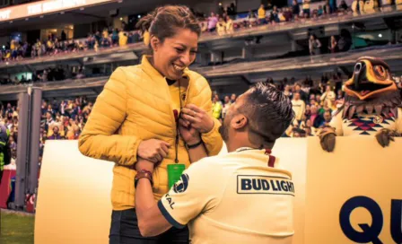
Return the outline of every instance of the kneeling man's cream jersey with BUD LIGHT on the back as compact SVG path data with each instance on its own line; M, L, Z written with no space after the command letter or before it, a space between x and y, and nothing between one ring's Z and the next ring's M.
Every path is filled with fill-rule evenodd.
M290 244L294 194L275 157L244 148L193 163L158 206L173 226L188 223L193 244Z

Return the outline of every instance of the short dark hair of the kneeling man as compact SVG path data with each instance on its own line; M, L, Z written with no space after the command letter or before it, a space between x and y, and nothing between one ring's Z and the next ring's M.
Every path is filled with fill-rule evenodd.
M292 102L268 83L257 83L246 94L239 110L249 118L249 141L271 149L293 121Z

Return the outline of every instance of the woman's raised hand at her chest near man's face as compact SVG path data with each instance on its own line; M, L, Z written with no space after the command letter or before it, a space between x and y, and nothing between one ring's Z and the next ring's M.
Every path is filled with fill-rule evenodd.
M188 104L181 109L180 118L184 120L183 126L191 125L199 133L208 133L214 128L214 119L194 104Z

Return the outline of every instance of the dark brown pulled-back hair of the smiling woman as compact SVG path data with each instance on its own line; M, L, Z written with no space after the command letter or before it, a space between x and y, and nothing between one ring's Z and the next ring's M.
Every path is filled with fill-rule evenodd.
M173 37L177 29L183 28L201 35L201 28L196 16L182 5L166 5L156 8L152 13L148 13L137 24L142 33L148 31L150 36L155 36L162 42L166 38Z

